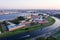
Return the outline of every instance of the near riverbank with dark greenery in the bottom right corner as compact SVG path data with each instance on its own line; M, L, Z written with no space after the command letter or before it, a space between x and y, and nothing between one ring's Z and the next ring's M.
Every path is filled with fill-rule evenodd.
M55 30L52 30L50 33L50 36L46 38L47 35L49 35L47 33L47 35L45 37L37 36L35 38L29 38L27 40L47 40L47 39L55 39L55 40L60 40L60 26L58 28L56 28Z

